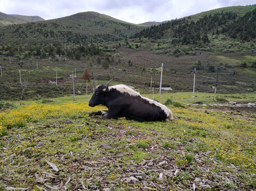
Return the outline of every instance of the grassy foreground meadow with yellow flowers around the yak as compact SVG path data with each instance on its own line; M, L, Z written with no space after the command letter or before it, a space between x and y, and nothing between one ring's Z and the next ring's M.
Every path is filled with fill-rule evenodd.
M144 95L152 98L151 94ZM88 98L11 102L0 112L0 189L253 190L255 109L184 103L255 102L255 94L155 94L175 120L89 117ZM179 103L179 105L174 104Z

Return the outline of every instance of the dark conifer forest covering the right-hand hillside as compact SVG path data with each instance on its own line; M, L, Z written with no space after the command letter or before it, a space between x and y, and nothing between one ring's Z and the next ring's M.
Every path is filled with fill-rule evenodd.
M250 41L256 37L256 8L238 18L234 12L204 15L196 22L191 16L152 25L136 33L134 38L172 39L171 44L189 45L210 42L208 34L227 34L231 38Z

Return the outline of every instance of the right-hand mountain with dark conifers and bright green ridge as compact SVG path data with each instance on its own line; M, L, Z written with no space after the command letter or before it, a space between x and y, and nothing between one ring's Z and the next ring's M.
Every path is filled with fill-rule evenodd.
M219 8L153 25L136 33L134 37L159 40L169 47L179 45L199 47L216 41L219 45L227 41L229 43L232 39L253 42L256 40L255 30L256 5L233 6L230 9ZM221 41L218 40L219 36Z

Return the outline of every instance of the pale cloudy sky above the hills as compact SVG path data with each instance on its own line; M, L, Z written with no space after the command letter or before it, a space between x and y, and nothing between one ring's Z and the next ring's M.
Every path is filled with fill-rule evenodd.
M49 20L95 11L139 24L179 19L214 8L253 4L256 0L0 0L0 12Z

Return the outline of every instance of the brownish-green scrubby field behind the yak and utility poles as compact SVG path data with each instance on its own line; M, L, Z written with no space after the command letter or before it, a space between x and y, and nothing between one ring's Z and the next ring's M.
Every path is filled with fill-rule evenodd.
M136 44L137 42L131 42ZM124 42L109 44L108 50L113 51L109 67L104 68L96 60L102 56L82 56L80 60L56 56L55 58L38 59L37 56L20 60L20 58L0 56L3 76L0 76L1 98L18 100L20 96L19 70L22 81L27 80L29 86L24 92L24 99L40 99L60 97L72 93L72 71L76 70L75 89L85 93L86 83L81 80L85 68L88 69L92 82L89 93L98 83L113 79L114 83L123 83L135 86L142 93L150 93L151 77L153 86L159 87L161 64L163 63L162 86L171 87L175 92L191 91L193 77L191 73L196 63L201 66L197 70L195 90L199 92L214 92L217 68L220 68L218 77L218 93L253 92L256 89L256 70L251 67L255 56L241 56L237 54L215 54L209 51L195 50L196 55L182 55L179 57L158 54L150 48L153 44L140 42L139 48L128 48ZM132 45L134 46L134 45ZM145 46L145 47L144 47ZM106 52L106 55L110 53ZM36 69L38 62L38 69ZM241 67L246 63L246 67ZM209 69L210 68L210 69ZM58 85L51 82L56 81ZM238 82L238 83L237 83Z

